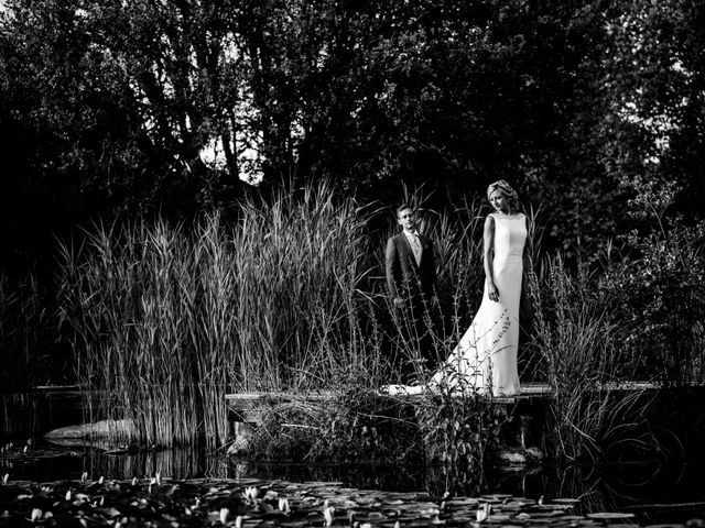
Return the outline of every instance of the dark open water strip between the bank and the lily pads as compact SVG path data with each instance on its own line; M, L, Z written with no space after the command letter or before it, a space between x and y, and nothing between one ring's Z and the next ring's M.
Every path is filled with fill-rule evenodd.
M369 464L272 464L232 460L219 453L181 449L140 453L108 453L95 448L42 446L24 454L0 457L0 474L12 480L50 482L78 480L86 472L91 479L163 477L260 479L291 482L338 482L345 487L382 492L429 492L442 496L508 494L514 497L579 498L576 513L632 510L650 512L653 521L661 510L654 504L691 504L681 508L682 518L705 515L703 464L612 464L568 469L516 469L486 472L454 472L423 465ZM699 505L699 506L698 506ZM669 509L671 507L666 507ZM673 509L673 508L672 508ZM672 510L669 510L673 520Z

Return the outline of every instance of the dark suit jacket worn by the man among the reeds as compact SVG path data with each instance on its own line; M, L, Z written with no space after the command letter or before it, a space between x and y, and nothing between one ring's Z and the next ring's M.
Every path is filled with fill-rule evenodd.
M387 242L384 264L389 295L405 298L423 294L431 298L436 288L436 260L433 241L420 235L421 263L416 264L414 252L404 233L392 237Z

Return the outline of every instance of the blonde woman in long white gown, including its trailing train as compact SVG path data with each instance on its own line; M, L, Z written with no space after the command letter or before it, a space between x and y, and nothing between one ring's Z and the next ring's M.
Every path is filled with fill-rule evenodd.
M503 179L488 187L487 197L495 212L485 220L482 301L426 387L513 396L521 392L517 350L527 218L518 211L517 193ZM389 392L413 394L426 387L390 386Z

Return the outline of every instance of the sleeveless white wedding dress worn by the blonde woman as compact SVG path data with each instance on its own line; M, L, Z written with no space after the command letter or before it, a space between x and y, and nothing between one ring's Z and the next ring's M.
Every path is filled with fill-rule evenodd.
M487 282L473 323L467 329L433 382L452 388L477 391L494 396L520 393L517 370L519 345L519 299L522 256L527 241L524 215L495 219L492 277L499 301L491 300Z

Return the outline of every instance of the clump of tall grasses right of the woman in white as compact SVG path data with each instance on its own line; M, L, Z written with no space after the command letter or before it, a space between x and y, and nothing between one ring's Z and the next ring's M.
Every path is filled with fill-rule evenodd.
M620 329L585 276L572 276L560 256L547 265L543 287L529 277L534 304L539 372L551 387L546 448L558 460L598 461L614 442L641 441L643 389L621 391Z

